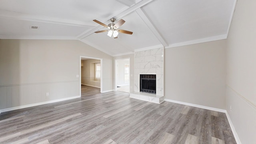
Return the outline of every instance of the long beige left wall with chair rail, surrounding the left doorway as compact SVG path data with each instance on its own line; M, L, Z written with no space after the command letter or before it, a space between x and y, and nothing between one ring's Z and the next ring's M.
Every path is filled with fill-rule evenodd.
M78 96L80 56L103 59L102 91L113 90L113 57L83 42L0 40L0 110Z

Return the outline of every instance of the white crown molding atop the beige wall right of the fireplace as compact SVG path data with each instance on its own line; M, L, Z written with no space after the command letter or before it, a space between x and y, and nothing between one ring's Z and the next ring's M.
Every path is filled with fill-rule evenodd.
M167 46L165 48L174 48L177 46L186 46L186 45L190 45L190 44L199 44L199 43L211 42L211 41L215 41L215 40L224 40L226 38L227 38L227 34L223 34L223 35L219 35L219 36L212 36L212 37L208 37L208 38L201 38L201 39L197 39L197 40L190 40L190 41L186 41L186 42L170 44L169 46Z

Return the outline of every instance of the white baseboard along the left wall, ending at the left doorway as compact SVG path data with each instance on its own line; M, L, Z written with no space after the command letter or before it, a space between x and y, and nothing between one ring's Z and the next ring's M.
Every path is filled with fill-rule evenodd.
M81 96L72 96L72 97L68 97L68 98L61 98L61 99L58 99L58 100L50 100L50 101L39 102L39 103L35 103L35 104L27 104L27 105L24 105L24 106L16 106L16 107L12 107L12 108L5 108L5 109L0 110L0 113L11 111L11 110L18 110L18 109L21 109L21 108L28 108L28 107L32 107L32 106L39 106L39 105L42 105L42 104L50 104L50 103L53 103L53 102L61 102L61 101L64 101L64 100L71 100L71 99L80 98L80 97Z

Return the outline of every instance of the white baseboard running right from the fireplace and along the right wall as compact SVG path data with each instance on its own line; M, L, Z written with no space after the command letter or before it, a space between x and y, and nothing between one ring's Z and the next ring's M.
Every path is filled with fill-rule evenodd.
M227 110L223 110L223 109L219 109L219 108L212 108L212 107L208 107L208 106L201 106L201 105L198 105L198 104L191 104L191 103L187 103L187 102L180 102L180 101L176 101L176 100L164 99L164 101L166 101L166 102L173 102L173 103L177 103L177 104L184 104L184 105L187 105L187 106L194 106L196 108L204 108L206 110L213 110L213 111L217 111L217 112L224 112L226 114L227 118L228 118L228 123L229 123L230 128L231 128L231 130L233 132L234 138L236 139L236 143L237 144L241 144L241 142L240 142L240 140L238 138L238 135L236 133L236 130L235 130L233 124L232 124L232 121L231 121L231 119L230 119L230 117L228 115Z

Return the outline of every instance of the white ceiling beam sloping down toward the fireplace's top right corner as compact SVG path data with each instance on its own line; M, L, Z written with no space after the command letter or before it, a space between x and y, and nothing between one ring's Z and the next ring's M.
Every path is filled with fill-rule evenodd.
M146 15L146 12L144 12L141 8L138 8L135 11L140 16L140 18L145 22L145 24L148 26L151 32L153 32L156 38L161 42L161 44L163 46L168 46L167 42L164 40L163 36L160 34L156 26L153 24L150 18Z

